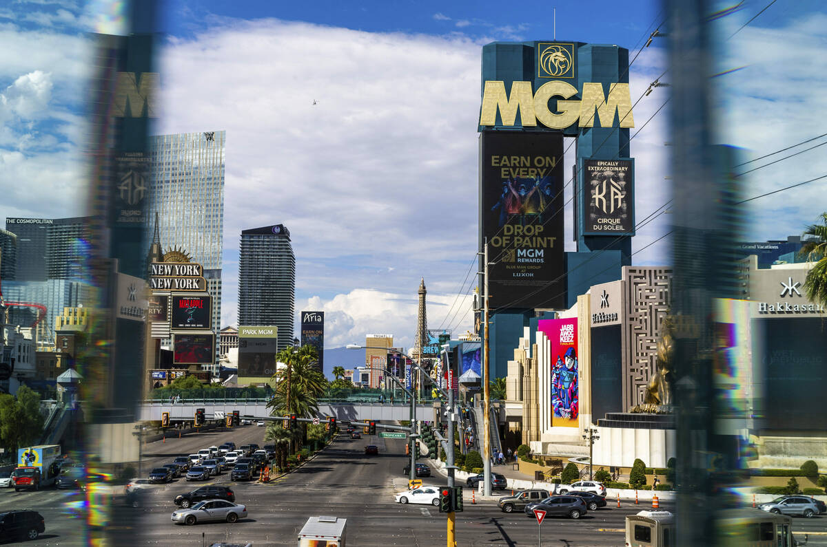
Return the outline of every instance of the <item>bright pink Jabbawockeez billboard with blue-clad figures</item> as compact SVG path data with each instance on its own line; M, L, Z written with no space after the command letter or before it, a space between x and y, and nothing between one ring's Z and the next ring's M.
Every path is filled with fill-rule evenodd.
M551 342L552 426L576 427L580 413L577 318L542 319L538 331Z

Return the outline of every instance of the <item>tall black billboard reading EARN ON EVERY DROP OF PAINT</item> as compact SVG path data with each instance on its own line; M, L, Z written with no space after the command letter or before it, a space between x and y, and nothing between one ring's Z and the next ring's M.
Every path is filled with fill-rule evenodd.
M480 141L490 307L565 307L562 134L486 131Z

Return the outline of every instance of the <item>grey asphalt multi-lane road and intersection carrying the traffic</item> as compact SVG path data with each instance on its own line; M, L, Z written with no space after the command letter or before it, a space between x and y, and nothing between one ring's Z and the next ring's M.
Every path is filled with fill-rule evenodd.
M180 454L233 440L237 445L264 445L265 429L243 426L236 430L203 432L146 445L144 470L170 461ZM366 456L364 447L380 447L379 456ZM427 459L419 460L428 463ZM444 545L446 516L437 507L394 503L394 492L404 490L402 469L407 463L404 440L363 435L361 440L339 435L318 456L275 483L231 483L227 473L204 483L174 483L153 488L150 503L141 509L125 507L116 497L108 545L210 545L216 541L250 541L253 545L296 545L296 537L308 516L333 515L347 518L349 545ZM444 478L424 478L425 484L444 484ZM248 508L248 518L236 524L179 526L170 521L174 497L204 484L231 484L237 502ZM120 488L117 489L120 491ZM87 545L84 520L73 516L74 492L0 492L0 509L29 507L41 511L46 533L26 545ZM495 502L471 504L466 489L466 511L457 513L457 545L537 545L537 522L523 513L505 514ZM543 522L543 545L564 547L624 545L625 516L647 508L614 502L590 512L579 521L547 519ZM662 508L670 510L669 504ZM808 545L827 545L827 517L793 521L796 536L810 533ZM812 535L815 532L815 535ZM101 535L93 532L93 537Z

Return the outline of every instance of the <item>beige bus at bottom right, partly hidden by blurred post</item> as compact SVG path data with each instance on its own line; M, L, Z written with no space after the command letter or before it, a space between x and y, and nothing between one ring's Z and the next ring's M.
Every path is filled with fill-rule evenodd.
M724 509L718 516L718 545L800 547L792 519L759 509ZM626 547L674 547L675 516L669 511L640 511L626 517Z

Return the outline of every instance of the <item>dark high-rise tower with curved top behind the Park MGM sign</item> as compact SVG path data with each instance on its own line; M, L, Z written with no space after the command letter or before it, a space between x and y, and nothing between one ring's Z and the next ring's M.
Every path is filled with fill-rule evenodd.
M277 326L279 350L293 345L296 259L282 224L241 231L238 324Z

